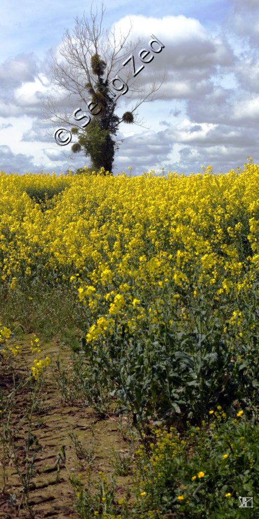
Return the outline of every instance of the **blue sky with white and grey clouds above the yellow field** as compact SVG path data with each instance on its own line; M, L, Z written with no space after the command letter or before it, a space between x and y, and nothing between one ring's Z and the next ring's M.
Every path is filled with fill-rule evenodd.
M53 84L51 65L54 58L65 62L62 38L66 30L73 37L76 18L81 20L84 13L92 27L91 4L84 0L1 4L0 170L23 174L42 169L59 175L88 166L90 158L71 155L75 136L66 146L55 142L54 131L69 126L46 121L42 101L54 98L71 116L77 107L89 113L76 95L68 100L65 90ZM153 94L162 99L140 104L134 112L138 124L119 126L117 140L124 141L114 156L113 174L128 173L131 166L133 175L159 172L162 167L165 173L190 175L202 172L203 165L213 166L214 173L227 173L243 169L250 156L259 163L259 0L142 0L141 4L121 0L119 7L116 0L106 0L104 8L100 44L108 52L114 48L112 34L118 50L121 37L132 27L119 48L115 73L109 76L118 73L128 81L129 90L119 98L116 114L121 117L133 110L139 92L145 97L152 81L159 86L166 74ZM99 25L101 1L93 2L92 13ZM150 50L152 34L164 48L154 51L152 61L133 77L132 60L122 66L125 56L130 57L136 47L138 70L143 65L138 53ZM159 50L159 44L153 44L153 50ZM85 59L90 64L90 55Z

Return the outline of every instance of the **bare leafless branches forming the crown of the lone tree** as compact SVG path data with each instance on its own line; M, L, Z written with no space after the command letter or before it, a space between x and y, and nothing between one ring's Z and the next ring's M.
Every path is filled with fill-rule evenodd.
M99 40L103 35L103 31L101 30L101 28L105 9L102 4L102 15L100 24L98 26L96 25L97 12L96 15L93 15L92 4L92 26L90 26L88 20L85 19L84 13L82 20L79 20L78 17L75 18L76 25L75 29L73 30L73 36L70 36L69 31L66 30L64 36L62 37L62 47L60 48L59 52L60 55L64 58L64 60L58 61L57 58L53 58L53 64L50 67L50 71L52 74L51 84L59 87L62 91L66 92L66 106L67 100L69 102L71 101L71 99L76 100L76 106L75 104L70 102L70 112L65 110L64 113L61 113L61 110L58 110L57 106L60 105L62 107L62 105L65 102L64 100L58 101L56 98L53 97L41 99L42 106L44 107L42 116L46 121L50 121L52 125L56 124L56 122L59 122L61 124L69 125L69 127L73 125L74 127L81 129L81 126L79 126L80 122L78 121L77 124L76 119L73 118L73 113L75 112L76 108L80 106L80 103L83 103L83 110L85 111L85 113L89 114L91 118L95 117L94 114L88 111L87 105L91 101L91 99L87 99L88 95L90 98L90 94L88 93L88 90L85 87L86 83L90 83L90 85L92 85L94 89L94 84L96 83L96 78L91 72L90 66L90 60L91 57L94 56L94 54L99 54L107 64L104 81L107 81L108 83L110 77L113 79L114 72L116 72L116 74L123 73L122 79L130 89L128 83L132 79L132 67L128 66L126 67L126 70L118 70L117 65L119 65L120 63L121 66L124 58L129 56L129 52L133 54L136 48L142 43L142 40L138 38L138 42L134 47L132 47L132 42L130 44L126 43L126 40L132 30L131 24L131 28L128 31L128 34L125 37L122 37L121 34L121 38L118 45L116 45L114 30L113 32L109 31L111 33L111 37L113 37L113 45L109 38L108 31L106 31L106 43L101 45L99 43ZM131 50L129 49L129 46L131 47ZM123 54L121 53L122 48L125 49L125 52ZM164 98L154 97L153 95L154 92L159 90L164 79L165 74L159 87L156 87L156 82L153 80L151 84L151 91L148 95L146 95L146 97L143 97L143 89L139 89L137 86L135 86L135 83L138 81L138 78L134 79L134 81L131 84L131 88L134 87L134 90L129 90L131 91L130 98L132 98L133 94L136 95L136 93L139 93L140 96L135 107L131 109L132 113L136 112L137 108L144 102ZM114 105L117 105L122 95L123 94L121 93L121 91L117 91L117 97L113 101ZM148 100L150 96L152 97ZM136 113L136 115L138 114ZM98 119L98 115L96 115L96 117ZM71 118L73 118L72 121ZM102 118L105 118L105 115L102 114ZM115 125L115 127L118 128L121 122L122 118L119 120L117 125ZM139 124L138 119L136 119L135 117L133 124L142 126L142 124Z

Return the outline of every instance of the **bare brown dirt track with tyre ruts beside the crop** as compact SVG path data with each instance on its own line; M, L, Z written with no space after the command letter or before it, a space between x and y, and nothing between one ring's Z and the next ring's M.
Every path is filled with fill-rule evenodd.
M31 339L34 334L24 335L20 339L16 339L13 343L20 344L24 357L28 362L28 366L33 365L34 357L30 350ZM12 340L8 339L11 344ZM52 366L56 370L58 376L55 360L60 354L60 359L64 360L64 367L69 367L69 357L71 350L67 346L60 348L60 340L52 340L49 343L42 345L40 343L41 353L40 358L45 356L53 359ZM26 373L24 362L19 356L16 357L18 369L17 379L22 373ZM13 381L11 377L1 378L2 390L6 394L8 388L11 390ZM17 424L24 415L25 402L30 401L30 395L25 388L18 391L16 402L18 404L18 412L15 417L15 424ZM33 510L37 518L43 519L45 517L63 519L70 517L76 519L79 517L74 508L74 491L69 482L69 476L65 466L60 465L60 481L56 483L57 469L54 468L57 454L61 453L61 447L66 446L66 465L71 472L76 475L82 474L82 482L84 482L85 469L80 466L80 459L77 457L75 448L68 436L69 432L74 432L78 439L82 442L85 449L91 447L92 442L92 424L94 430L93 452L95 459L93 461L93 477L98 479L98 472L102 471L108 474L112 471L109 465L109 456L112 455L111 448L122 450L124 453L128 452L129 444L122 439L118 430L119 419L111 412L105 419L98 419L96 413L91 407L68 406L61 400L61 393L54 385L53 376L48 368L48 375L46 383L42 390L42 395L45 397L44 411L35 413L32 429L33 435L37 436L38 443L43 447L35 458L35 466L38 472L41 472L31 479L30 490L30 504L34 505ZM27 441L26 426L24 426L19 435L16 436L17 445L20 445L19 459L24 458L24 447ZM21 452L21 455L20 455ZM3 459L0 460L0 471L3 472ZM18 504L21 498L22 483L19 480L17 471L13 462L10 461L6 469L8 475L7 489L8 493L0 494L0 518L11 519L16 517ZM118 476L118 498L125 493L128 488L128 476ZM3 482L1 482L1 486ZM15 506L8 506L10 496L17 494ZM21 509L19 517L27 518L30 514L25 509Z

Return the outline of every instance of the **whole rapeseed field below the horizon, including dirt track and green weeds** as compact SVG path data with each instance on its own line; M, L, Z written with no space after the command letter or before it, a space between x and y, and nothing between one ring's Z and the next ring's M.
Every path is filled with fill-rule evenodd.
M48 482L66 474L69 517L257 517L258 264L251 158L227 174L1 172L3 517L68 515L32 497L54 388L61 422L68 407L105 435L113 420L127 446L99 471L70 423L76 457L57 442Z

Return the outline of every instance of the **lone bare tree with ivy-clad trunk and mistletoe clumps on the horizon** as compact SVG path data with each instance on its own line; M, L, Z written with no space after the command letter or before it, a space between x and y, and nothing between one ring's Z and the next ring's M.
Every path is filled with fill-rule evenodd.
M120 99L121 95L124 95L125 91L124 88L122 88L122 92L119 91L116 99L112 99L112 96L116 94L109 94L108 92L108 83L109 78L112 77L114 80L114 72L117 72L118 74L118 64L122 63L122 60L124 57L128 56L129 50L128 45L125 45L126 39L128 38L128 35L131 32L132 26L130 31L128 32L126 37L122 37L120 39L120 42L118 45L116 45L115 37L114 37L114 31L111 32L111 35L113 36L113 46L110 42L108 32L106 31L107 36L107 42L106 44L103 44L100 46L99 40L103 35L103 32L101 33L101 26L103 21L103 13L104 8L102 4L102 18L100 21L100 25L96 26L96 16L93 16L92 13L92 6L91 6L91 17L92 17L92 28L90 27L87 20L85 20L85 16L83 14L83 19L79 20L78 17L75 18L76 26L73 31L73 37L70 36L68 30L65 31L65 34L62 38L62 48L60 49L60 54L64 58L64 60L57 61L56 58L53 58L53 63L50 67L50 71L52 74L52 84L59 87L61 91L64 91L66 93L66 104L67 101L69 101L69 111L65 110L63 113L61 113L57 105L60 104L59 101L55 97L47 97L47 100L41 99L42 105L44 106L44 112L42 112L42 116L45 118L46 121L50 121L52 124L56 124L56 122L60 122L62 124L69 125L72 128L72 133L77 134L79 130L82 132L82 126L81 123L78 122L76 124L75 120L81 120L81 119L73 118L73 123L71 123L71 114L75 114L75 103L84 103L84 106L89 105L89 94L92 95L92 103L98 105L98 112L93 113L95 120L91 121L90 127L88 129L83 129L83 134L79 134L81 136L81 145L79 143L74 144L74 148L72 146L72 155L69 155L69 158L71 158L74 153L77 153L81 151L82 147L84 148L84 151L87 151L87 144L90 141L93 140L93 135L95 135L96 138L96 131L98 129L100 135L100 132L106 132L105 133L105 142L106 142L106 148L109 146L113 146L114 149L118 149L119 145L118 142L114 142L111 140L109 136L110 133L116 134L118 131L118 127L121 124L121 122L128 122L137 124L138 126L142 126L140 124L140 121L137 121L136 118L133 117L133 113L137 110L137 108L142 104L143 102L147 102L150 95L152 95L152 98L149 99L149 101L153 101L154 99L163 99L162 97L156 97L154 98L153 93L159 90L161 87L164 77L161 81L161 84L159 87L156 87L156 82L152 81L151 91L146 97L143 97L142 90L139 90L135 83L137 79L135 79L134 83L132 83L131 87L134 86L134 91L139 93L139 100L136 103L135 107L132 107L130 112L125 112L121 118L118 116L114 116L113 112L117 105L118 100ZM134 50L137 48L139 44L141 44L141 41L138 38L137 45L131 49L131 53L134 52ZM125 52L121 54L121 49L123 49L125 46ZM116 50L119 47L118 50ZM118 56L118 54L120 54ZM100 60L100 56L104 58L104 60ZM90 67L91 62L91 67ZM127 69L131 69L131 67L126 67ZM91 70L92 69L92 70ZM106 71L105 71L106 69ZM106 72L105 80L102 78L104 75L104 71ZM123 70L124 72L124 70ZM97 84L94 84L95 78L93 78L93 74L98 76ZM124 86L126 85L128 89L128 81L131 78L131 71L128 70L126 80L123 80ZM121 79L121 78L120 78ZM114 85L113 85L114 87ZM116 88L116 87L114 87ZM132 91L133 93L133 91ZM132 97L132 93L131 96ZM71 99L73 99L73 103L71 103ZM71 108L70 108L71 106ZM91 108L90 110L94 110L94 108ZM78 110L79 112L79 110ZM138 114L136 114L138 115ZM51 117L49 117L51 116ZM90 119L90 117L89 117ZM112 124L111 124L112 120ZM89 123L88 123L89 124ZM84 125L87 126L87 125ZM95 129L95 130L94 130ZM93 133L95 131L95 133ZM92 138L87 139L86 134L90 134L92 132ZM102 136L104 136L104 133L102 133ZM86 140L85 140L86 139ZM107 141L108 139L108 141ZM80 141L80 139L79 139ZM123 141L123 140L122 140ZM104 142L104 141L103 141ZM90 149L90 148L89 148ZM89 152L86 155L91 155ZM114 153L113 153L114 154ZM113 161L113 156L112 156ZM110 161L109 161L110 163ZM95 165L93 165L95 166Z

